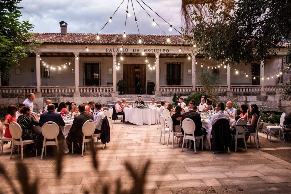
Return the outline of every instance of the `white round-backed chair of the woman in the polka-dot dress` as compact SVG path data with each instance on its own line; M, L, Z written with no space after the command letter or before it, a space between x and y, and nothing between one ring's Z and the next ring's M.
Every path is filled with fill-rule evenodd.
M10 159L12 158L13 146L18 145L21 146L21 160L23 160L23 145L32 144L34 143L32 140L22 140L22 129L17 122L11 122L9 124L9 130L12 135L12 147L10 152ZM19 140L15 140L19 139ZM35 149L36 155L37 150Z

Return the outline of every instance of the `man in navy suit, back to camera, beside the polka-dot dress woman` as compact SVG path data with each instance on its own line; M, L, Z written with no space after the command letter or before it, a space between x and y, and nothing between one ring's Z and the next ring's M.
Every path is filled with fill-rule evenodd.
M62 118L62 115L55 113L55 105L48 105L48 112L40 115L39 126L42 127L46 122L52 121L59 125L59 135L62 135L62 130L60 126L65 126L65 122Z

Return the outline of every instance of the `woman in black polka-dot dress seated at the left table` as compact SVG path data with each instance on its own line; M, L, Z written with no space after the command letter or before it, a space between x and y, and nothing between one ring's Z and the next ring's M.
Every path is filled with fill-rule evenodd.
M25 145L24 151L29 153L30 157L36 156L35 149L37 150L37 155L42 154L42 139L40 134L33 132L32 126L38 126L38 119L34 114L31 114L29 106L22 108L21 113L23 115L18 116L17 122L22 129L22 140L32 140L33 144Z

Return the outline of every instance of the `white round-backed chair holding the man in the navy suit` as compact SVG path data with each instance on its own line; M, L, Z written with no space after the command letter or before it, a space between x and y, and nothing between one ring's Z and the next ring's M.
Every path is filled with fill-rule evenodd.
M59 126L52 121L46 122L42 126L43 135L42 156L44 150L46 156L46 146L57 146L57 150L59 152L59 142L58 142L59 131L60 131ZM55 139L55 141L46 141L46 139ZM42 156L40 157L40 160L42 160Z

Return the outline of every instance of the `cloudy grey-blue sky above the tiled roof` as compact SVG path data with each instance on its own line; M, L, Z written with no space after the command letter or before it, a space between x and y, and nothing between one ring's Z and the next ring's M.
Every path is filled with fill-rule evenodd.
M30 20L30 23L35 25L33 32L59 33L59 22L63 20L68 24L68 33L98 33L121 2L122 0L23 0L19 6L24 7L21 10L21 20ZM132 0L132 2L140 33L164 34L158 26L152 26L151 18L137 0ZM139 2L166 33L178 34L175 30L169 32L169 25L140 0ZM173 27L180 29L182 26L181 0L143 0L143 2ZM113 16L112 22L105 26L102 33L123 33L126 7L127 0L123 2ZM130 0L128 11L132 15L127 18L126 34L138 34Z

